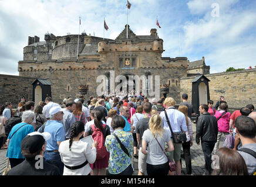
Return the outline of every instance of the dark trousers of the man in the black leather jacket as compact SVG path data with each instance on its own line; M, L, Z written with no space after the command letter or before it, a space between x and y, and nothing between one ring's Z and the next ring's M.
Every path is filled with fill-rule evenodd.
M201 145L204 153L204 160L206 161L206 170L211 174L211 171L213 171L213 168L211 168L211 152L213 152L215 141L201 141Z

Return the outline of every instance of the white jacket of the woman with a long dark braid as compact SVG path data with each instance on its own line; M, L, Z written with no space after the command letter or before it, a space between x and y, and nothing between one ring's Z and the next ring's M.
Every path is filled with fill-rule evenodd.
M90 148L83 141L73 141L69 151L69 140L62 141L59 145L59 154L62 162L70 167L83 164L86 160L93 164L96 160L96 148ZM86 164L80 169L68 169L64 167L63 175L88 175L91 171L90 165Z

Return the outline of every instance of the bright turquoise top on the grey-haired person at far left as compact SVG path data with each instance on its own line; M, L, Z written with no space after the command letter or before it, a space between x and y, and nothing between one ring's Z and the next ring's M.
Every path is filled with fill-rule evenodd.
M25 124L25 126L23 126L23 124ZM23 127L21 127L21 126L23 126ZM19 129L19 127L21 127L21 129ZM18 131L16 131L16 130L18 130ZM15 131L16 131L16 133L15 133ZM32 133L33 131L34 131L34 127L28 123L18 123L14 127L12 127L12 130L8 136L8 139L11 139L11 140L10 140L10 143L8 146L6 157L8 157L8 158L24 158L21 153L21 141L23 140L23 138L26 137L26 135L28 135L29 133ZM14 134L13 137L12 137L12 134Z

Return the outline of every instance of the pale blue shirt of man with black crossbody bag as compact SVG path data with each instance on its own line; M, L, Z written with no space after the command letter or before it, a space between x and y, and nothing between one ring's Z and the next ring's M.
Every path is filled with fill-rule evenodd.
M187 131L187 123L186 123L186 118L184 113L176 110L174 107L169 107L168 110L166 110L166 112L171 124L171 129L173 130L174 133L181 132L181 129L183 131ZM171 130L167 123L166 115L164 114L164 111L160 113L160 116L163 119L164 129L169 131L169 134L171 136Z

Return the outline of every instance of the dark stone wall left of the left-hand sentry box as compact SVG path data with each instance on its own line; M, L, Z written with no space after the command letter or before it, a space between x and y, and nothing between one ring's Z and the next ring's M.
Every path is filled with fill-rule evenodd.
M27 101L32 101L33 81L35 78L0 75L0 105L4 105L5 102L12 102L13 108L16 108L22 95L27 98Z

